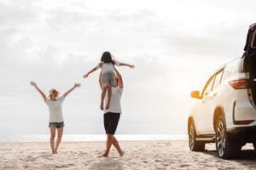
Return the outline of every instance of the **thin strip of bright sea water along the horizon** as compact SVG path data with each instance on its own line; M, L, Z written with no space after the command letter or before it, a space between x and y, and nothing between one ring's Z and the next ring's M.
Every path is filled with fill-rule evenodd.
M141 134L117 134L115 137L123 141L145 141L145 140L187 140L187 135L141 135ZM82 141L104 141L106 135L84 135L84 134L64 134L64 142ZM21 143L21 142L48 142L49 135L0 135L0 143Z

